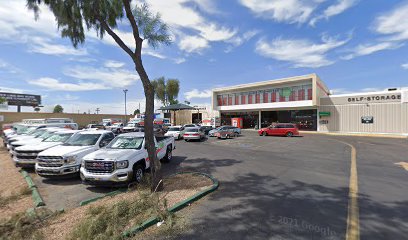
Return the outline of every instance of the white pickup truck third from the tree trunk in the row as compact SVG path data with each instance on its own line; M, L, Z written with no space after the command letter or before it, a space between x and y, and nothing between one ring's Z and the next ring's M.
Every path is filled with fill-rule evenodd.
M49 148L62 145L78 130L65 130L60 129L55 132L51 137L44 139L39 143L32 143L16 147L14 149L13 160L18 167L34 167L37 159L37 155Z

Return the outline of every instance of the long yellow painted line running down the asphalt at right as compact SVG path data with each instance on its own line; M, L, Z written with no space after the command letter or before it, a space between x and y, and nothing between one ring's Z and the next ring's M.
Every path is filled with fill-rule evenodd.
M346 142L342 142L351 147L351 166L349 183L349 202L347 216L346 240L360 239L360 216L358 208L358 176L357 176L357 151L356 148Z

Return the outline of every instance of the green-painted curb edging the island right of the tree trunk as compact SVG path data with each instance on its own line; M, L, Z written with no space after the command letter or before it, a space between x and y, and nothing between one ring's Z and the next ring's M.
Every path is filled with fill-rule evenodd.
M176 173L176 174L172 174L171 176L175 176L175 175L180 175L180 174L193 174L193 175L202 175L205 177L208 177L209 179L212 180L213 185L208 187L207 189L204 189L203 191L181 201L176 203L175 205L173 205L171 208L168 209L169 212L177 212L181 209L183 209L184 207L188 206L190 203L195 202L197 200L199 200L200 198L204 197L205 195L214 192L218 186L219 186L219 182L216 178L214 178L213 176L206 174L206 173L200 173L200 172L181 172L181 173ZM158 217L151 217L148 220L144 221L142 224L137 225L135 227L132 227L131 229L125 231L122 233L122 237L124 238L128 238L131 236L134 236L136 233L141 232L143 230L145 230L146 228L156 224L159 222L159 218Z

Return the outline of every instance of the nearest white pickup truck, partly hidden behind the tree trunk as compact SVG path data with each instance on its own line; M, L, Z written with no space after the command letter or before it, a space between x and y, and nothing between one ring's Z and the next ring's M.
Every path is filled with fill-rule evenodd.
M155 144L157 157L169 162L175 149L174 137L155 137ZM105 148L86 155L80 176L83 183L91 185L140 182L149 167L144 133L125 133Z

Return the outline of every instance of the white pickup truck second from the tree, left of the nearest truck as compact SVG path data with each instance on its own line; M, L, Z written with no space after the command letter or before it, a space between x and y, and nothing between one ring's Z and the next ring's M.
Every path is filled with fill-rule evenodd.
M77 174L82 158L105 147L114 137L111 131L106 130L75 133L64 144L39 153L35 171L42 177Z

